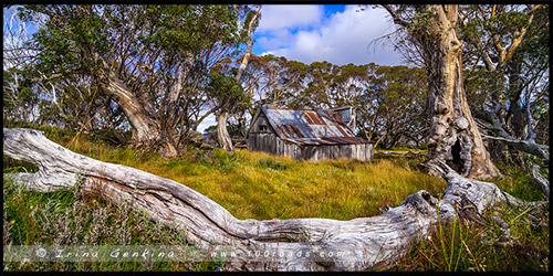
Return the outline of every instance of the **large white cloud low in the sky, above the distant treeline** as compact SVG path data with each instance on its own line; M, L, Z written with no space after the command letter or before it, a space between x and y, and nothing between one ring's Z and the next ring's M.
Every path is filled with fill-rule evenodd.
M327 61L338 65L371 62L398 65L403 63L401 54L394 52L390 43L386 43L386 40L373 42L394 30L383 9L368 8L361 11L357 6L346 6L343 12L332 14L320 28L298 31L288 44L273 43L275 47L264 47L269 44L263 44L261 47L267 53L307 64ZM270 40L271 38L267 38L267 41Z

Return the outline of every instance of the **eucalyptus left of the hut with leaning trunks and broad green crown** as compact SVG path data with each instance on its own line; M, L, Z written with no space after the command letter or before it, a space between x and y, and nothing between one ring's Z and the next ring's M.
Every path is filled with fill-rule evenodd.
M45 81L74 77L124 113L133 141L179 153L196 127L210 67L246 41L232 6L24 6L36 22L29 46ZM36 21L41 19L41 21Z

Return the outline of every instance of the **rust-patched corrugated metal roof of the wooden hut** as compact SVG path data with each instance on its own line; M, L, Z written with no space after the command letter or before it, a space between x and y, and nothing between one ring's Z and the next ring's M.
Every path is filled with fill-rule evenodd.
M284 141L298 145L368 144L356 137L333 110L290 109L262 106L261 110L276 135ZM259 114L255 116L255 118ZM253 119L253 121L255 120Z

